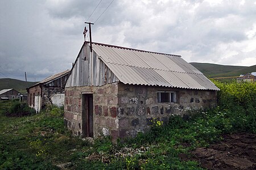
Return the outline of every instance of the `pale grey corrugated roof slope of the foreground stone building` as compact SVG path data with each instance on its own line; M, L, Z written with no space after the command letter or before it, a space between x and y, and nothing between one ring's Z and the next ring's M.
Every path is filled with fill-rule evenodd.
M219 90L181 56L93 42L93 50L125 84Z

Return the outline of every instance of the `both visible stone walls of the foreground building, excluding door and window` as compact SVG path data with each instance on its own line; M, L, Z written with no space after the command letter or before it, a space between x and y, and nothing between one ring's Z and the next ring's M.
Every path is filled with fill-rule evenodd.
M176 91L176 103L158 103L159 91ZM123 83L101 87L65 88L64 122L75 135L82 133L82 94L93 94L93 137L135 137L150 128L152 118L164 123L172 114L216 105L217 92L138 86Z

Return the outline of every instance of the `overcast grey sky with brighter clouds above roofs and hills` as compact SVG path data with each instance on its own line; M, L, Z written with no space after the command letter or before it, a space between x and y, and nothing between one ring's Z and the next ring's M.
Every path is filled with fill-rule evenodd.
M95 42L256 65L256 1L112 1L0 0L0 78L24 80L26 71L40 81L71 69L86 21Z

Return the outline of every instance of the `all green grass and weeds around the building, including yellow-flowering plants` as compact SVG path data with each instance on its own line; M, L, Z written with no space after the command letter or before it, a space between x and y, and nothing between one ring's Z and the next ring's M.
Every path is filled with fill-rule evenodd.
M151 130L118 141L98 138L94 143L72 137L64 128L63 108L48 108L26 117L6 117L9 101L0 102L0 169L203 169L182 161L196 147L221 140L221 134L256 133L256 84L214 82L218 107L171 116L168 124L153 121ZM10 101L11 102L11 101Z

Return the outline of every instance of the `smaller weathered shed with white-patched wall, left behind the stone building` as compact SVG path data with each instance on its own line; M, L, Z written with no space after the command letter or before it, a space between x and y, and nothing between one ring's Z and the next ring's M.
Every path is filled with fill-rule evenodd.
M69 76L69 70L49 76L39 83L27 88L27 103L37 112L46 105L61 106L64 104L64 88Z

